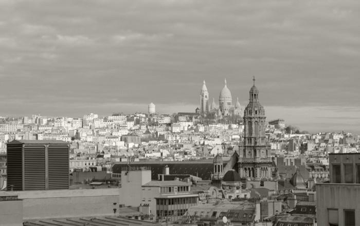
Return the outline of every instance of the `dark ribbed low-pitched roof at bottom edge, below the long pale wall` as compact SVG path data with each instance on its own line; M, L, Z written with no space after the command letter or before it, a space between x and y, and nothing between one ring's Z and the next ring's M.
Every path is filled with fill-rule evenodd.
M135 220L119 216L101 216L101 217L66 217L55 219L26 220L25 226L74 226L74 225L96 225L96 226L160 226L159 223L153 223L143 220Z

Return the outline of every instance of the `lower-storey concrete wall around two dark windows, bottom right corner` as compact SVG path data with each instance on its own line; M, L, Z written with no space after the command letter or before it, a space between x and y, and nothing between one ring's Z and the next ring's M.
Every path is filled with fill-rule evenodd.
M316 218L318 226L328 225L328 209L337 209L339 225L344 225L344 210L355 210L355 223L360 224L360 184L316 184Z

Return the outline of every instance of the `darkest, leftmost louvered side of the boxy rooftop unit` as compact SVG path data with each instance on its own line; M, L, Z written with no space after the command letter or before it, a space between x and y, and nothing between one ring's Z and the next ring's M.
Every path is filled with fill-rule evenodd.
M23 190L22 145L7 145L7 190Z

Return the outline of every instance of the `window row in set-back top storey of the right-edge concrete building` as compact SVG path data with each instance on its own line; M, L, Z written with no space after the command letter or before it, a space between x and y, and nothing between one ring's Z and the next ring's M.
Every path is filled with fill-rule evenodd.
M342 166L342 167L341 167ZM354 169L355 166L355 169ZM354 181L354 171L356 178ZM343 172L343 174L341 174ZM344 175L344 182L341 181L341 175ZM332 165L332 182L333 183L360 183L360 164L333 164Z

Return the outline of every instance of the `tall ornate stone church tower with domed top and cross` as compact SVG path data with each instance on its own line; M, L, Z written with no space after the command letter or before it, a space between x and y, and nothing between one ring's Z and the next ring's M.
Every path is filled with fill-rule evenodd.
M239 174L242 178L271 178L274 167L265 136L265 110L259 102L259 90L250 89L249 104L244 111L244 141L240 147Z

